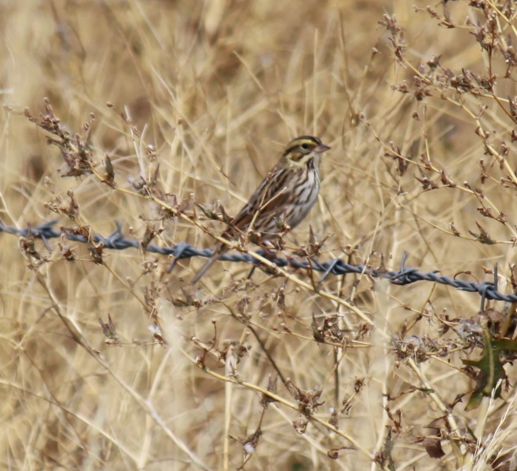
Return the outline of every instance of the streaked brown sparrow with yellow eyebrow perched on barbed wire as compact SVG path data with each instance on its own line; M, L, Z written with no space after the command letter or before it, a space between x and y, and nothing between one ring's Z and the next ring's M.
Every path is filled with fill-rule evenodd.
M320 191L320 161L330 147L313 136L299 136L287 144L282 157L258 185L248 203L222 233L225 239L253 230L260 240L270 240L285 225L294 229L309 213ZM214 254L197 271L197 283L207 270L230 249L218 242Z

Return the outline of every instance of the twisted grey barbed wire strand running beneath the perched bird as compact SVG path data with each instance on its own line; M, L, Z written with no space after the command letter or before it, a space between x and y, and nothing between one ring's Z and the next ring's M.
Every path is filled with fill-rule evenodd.
M13 234L20 237L34 237L43 240L45 247L52 251L48 240L56 237L65 236L68 240L77 242L88 242L87 237L73 231L62 230L58 231L54 228L57 220L44 222L36 227L28 227L27 229L18 229L15 226L6 226L0 221L0 232ZM102 242L104 248L112 250L125 250L128 248L139 249L142 247L141 243L135 239L128 239L124 236L122 228L118 221L115 221L116 229L108 237L103 237L100 234L94 235L90 240L95 244ZM171 264L169 271L171 271L176 263L182 259L189 259L194 256L210 257L214 252L212 249L196 249L188 244L188 242L179 242L175 246L159 247L156 244L149 244L146 246L146 251L159 253L162 255L172 255L174 262ZM346 275L346 274L365 274L373 278L384 278L393 284L408 285L417 281L431 281L434 283L445 284L452 286L460 291L467 291L470 293L478 293L481 295L481 309L484 309L485 299L492 299L497 301L517 302L517 294L503 294L497 291L497 265L494 266L494 281L483 281L481 283L474 281L464 281L452 279L447 276L438 275L437 270L421 272L417 268L405 267L406 254L402 257L402 263L399 271L377 269L366 265L352 265L346 263L343 259L332 259L326 262L317 260L297 260L286 259L285 257L271 257L270 254L265 254L263 250L256 252L261 256L266 256L267 259L279 266L291 266L294 268L312 269L323 272L319 281L325 280L330 274L332 275ZM258 264L252 254L249 253L225 253L221 255L220 260L226 262L247 262L251 264Z

